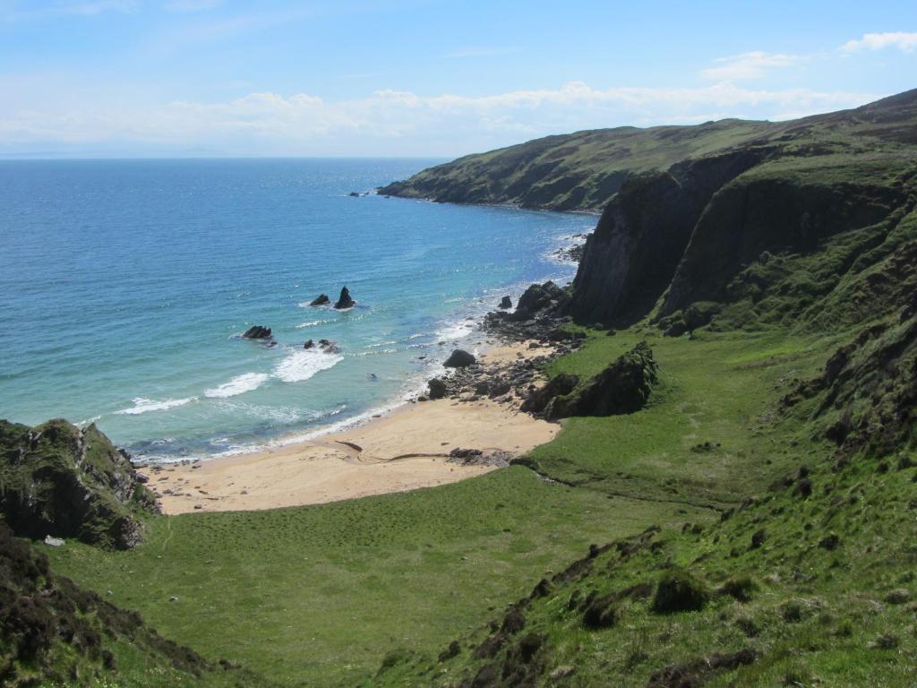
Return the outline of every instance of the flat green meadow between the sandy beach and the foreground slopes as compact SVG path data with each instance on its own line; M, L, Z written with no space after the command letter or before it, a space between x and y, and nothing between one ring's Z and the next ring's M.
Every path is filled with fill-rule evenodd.
M436 647L472 627L590 543L684 512L513 468L332 505L160 517L136 549L50 554L55 570L111 590L205 657L282 684L347 685L392 649Z

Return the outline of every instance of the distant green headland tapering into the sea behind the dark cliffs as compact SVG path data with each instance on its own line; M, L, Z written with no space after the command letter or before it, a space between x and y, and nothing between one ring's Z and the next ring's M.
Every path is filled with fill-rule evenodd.
M915 97L911 91L854 110L787 122L724 119L551 136L437 165L380 193L447 203L602 210L627 180L641 173L735 150L794 158L910 150L917 144Z

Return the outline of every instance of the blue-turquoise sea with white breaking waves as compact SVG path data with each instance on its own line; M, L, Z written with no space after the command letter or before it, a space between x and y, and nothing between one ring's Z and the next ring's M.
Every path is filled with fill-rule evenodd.
M435 162L0 162L0 417L175 461L403 403L503 294L568 282L552 253L595 224L373 193ZM353 309L308 305L344 285Z

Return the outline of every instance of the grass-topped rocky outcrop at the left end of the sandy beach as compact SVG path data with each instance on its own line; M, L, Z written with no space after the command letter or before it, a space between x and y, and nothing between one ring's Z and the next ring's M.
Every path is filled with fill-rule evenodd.
M127 455L95 426L0 421L0 513L17 536L127 549L155 508Z

